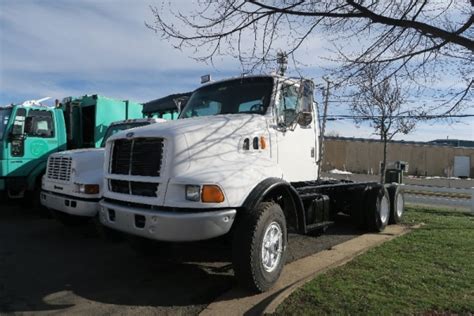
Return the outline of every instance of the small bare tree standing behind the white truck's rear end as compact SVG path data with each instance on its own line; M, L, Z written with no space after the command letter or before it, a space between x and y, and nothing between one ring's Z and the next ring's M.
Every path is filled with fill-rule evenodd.
M415 128L416 121L422 119L421 109L403 109L405 96L402 85L396 77L377 79L379 70L375 66L364 70L365 80L359 82L351 111L357 124L368 121L383 142L383 158L380 182L384 183L387 166L387 144L399 133L408 134Z

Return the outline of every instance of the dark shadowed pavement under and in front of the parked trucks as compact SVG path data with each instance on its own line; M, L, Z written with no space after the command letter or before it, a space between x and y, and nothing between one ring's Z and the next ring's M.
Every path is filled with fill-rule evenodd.
M319 237L290 236L288 261L362 233L342 223ZM229 255L222 240L138 254L92 225L65 227L0 202L0 314L198 314L235 285Z

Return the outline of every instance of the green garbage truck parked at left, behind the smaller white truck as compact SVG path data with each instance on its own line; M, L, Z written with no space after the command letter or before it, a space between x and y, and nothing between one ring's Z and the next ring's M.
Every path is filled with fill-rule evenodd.
M100 147L112 122L141 118L143 105L100 95L68 97L54 107L25 102L0 108L0 195L39 206L50 154Z

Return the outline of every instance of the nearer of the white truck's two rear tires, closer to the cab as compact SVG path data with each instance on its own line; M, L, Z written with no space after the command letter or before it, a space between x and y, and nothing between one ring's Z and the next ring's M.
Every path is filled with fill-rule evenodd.
M390 219L390 198L384 187L373 188L367 194L367 226L370 231L381 232Z

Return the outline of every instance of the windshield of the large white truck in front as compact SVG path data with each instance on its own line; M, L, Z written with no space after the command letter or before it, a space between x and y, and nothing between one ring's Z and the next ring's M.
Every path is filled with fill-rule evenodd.
M265 114L272 95L271 77L241 78L196 90L179 118L219 114Z

